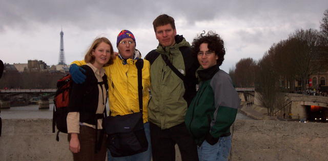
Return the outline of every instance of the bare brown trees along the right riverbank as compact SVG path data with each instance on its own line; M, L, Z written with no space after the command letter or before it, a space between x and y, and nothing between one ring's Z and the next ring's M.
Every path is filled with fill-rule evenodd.
M258 61L240 59L229 74L236 87L255 87L261 104L268 108L269 115L274 115L286 104L281 92L304 91L310 75L327 70L328 9L323 13L320 31L297 29L273 44Z

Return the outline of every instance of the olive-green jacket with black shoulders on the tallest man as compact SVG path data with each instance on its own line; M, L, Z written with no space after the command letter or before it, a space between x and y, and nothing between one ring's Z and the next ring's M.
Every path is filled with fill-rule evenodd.
M149 121L161 129L168 129L185 122L187 107L196 94L198 68L197 59L192 56L190 44L182 35L175 36L171 47L158 45L156 50L149 52L145 59L150 64L151 99L148 106ZM166 63L160 54L168 56L186 80L183 82Z

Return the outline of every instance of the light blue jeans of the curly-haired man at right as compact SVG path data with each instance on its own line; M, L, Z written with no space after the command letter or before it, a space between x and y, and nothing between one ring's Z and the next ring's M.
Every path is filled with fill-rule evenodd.
M220 137L219 141L210 145L206 140L197 147L198 158L200 161L228 160L231 150L231 135Z

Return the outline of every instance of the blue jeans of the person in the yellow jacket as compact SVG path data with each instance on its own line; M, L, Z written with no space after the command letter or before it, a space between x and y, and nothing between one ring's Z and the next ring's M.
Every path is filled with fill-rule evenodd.
M150 130L149 130L149 122L144 124L145 127L145 133L148 141L148 150L142 153L130 155L130 156L122 156L122 157L113 157L111 155L111 152L107 150L108 152L108 161L150 161L152 158L152 145L150 143Z

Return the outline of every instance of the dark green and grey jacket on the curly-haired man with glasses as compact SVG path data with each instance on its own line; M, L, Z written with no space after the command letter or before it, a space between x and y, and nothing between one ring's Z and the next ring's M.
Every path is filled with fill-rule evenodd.
M220 136L230 135L240 98L229 74L217 65L198 70L197 73L201 82L188 108L186 126L195 143L201 145L205 139L210 143L208 139L214 138L217 142Z

